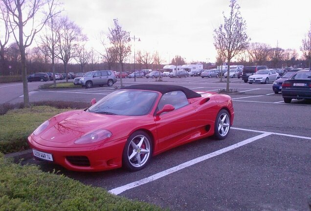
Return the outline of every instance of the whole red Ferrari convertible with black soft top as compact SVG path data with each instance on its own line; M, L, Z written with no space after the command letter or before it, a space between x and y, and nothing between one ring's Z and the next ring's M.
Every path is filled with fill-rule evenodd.
M136 171L170 148L224 139L234 118L230 96L177 85L132 85L92 104L39 126L28 137L34 157L77 171Z

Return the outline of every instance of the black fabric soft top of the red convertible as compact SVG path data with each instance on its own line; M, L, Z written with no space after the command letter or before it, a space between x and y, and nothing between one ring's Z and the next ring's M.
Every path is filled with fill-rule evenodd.
M171 91L182 91L185 93L187 99L201 97L200 94L194 92L186 87L178 86L178 85L166 85L166 84L137 84L126 86L122 89L140 89L140 90L151 90L151 91L158 91L162 94Z

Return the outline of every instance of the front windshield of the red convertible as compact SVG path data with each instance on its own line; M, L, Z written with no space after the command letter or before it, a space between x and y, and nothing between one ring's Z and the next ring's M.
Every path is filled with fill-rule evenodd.
M157 96L153 91L118 90L102 98L87 111L110 115L146 115L155 105Z

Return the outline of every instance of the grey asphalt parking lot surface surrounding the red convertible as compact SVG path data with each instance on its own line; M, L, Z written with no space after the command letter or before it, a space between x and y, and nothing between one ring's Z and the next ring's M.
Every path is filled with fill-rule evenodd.
M161 83L192 90L218 91L225 87L225 83L215 78L163 80ZM207 138L169 150L155 156L138 172L116 169L81 173L32 159L24 163L39 165L44 171L56 169L87 185L171 210L309 211L311 103L294 100L285 104L281 94L273 93L272 84L245 84L242 79L230 81L230 88L240 93L231 94L235 120L225 140ZM160 83L145 78L123 82L125 85ZM1 84L1 96L14 92L6 90L13 87ZM30 101L90 102L113 90L111 87L32 89ZM20 96L11 95L11 100L8 96L4 99L11 103L22 100Z

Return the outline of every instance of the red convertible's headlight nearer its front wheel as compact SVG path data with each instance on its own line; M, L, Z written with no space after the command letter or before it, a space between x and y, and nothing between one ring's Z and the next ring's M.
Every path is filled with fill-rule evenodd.
M90 144L98 141L105 140L110 138L112 133L106 129L98 129L93 132L90 132L79 139L77 139L74 143L75 144Z

